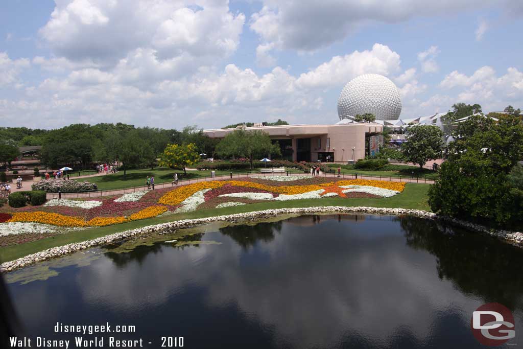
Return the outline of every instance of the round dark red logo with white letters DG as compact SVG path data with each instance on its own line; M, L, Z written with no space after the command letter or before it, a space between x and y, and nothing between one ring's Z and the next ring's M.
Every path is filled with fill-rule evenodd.
M502 304L487 303L472 313L472 333L478 342L487 346L498 346L516 336L514 316Z

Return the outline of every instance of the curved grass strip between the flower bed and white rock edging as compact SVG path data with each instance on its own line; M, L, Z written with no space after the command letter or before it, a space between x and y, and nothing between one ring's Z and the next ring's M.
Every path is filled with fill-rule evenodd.
M203 218L232 213L242 213L274 208L289 207L312 207L312 206L370 206L386 208L407 208L430 211L427 204L428 184L406 184L405 190L401 194L390 198L322 198L291 201L269 201L259 204L249 204L245 206L232 206L225 208L213 208L206 210L196 210L193 212L179 213L164 217L132 221L128 223L115 224L113 226L92 228L84 231L76 231L54 237L41 239L25 244L11 245L0 249L0 261L7 262L26 256L31 253L50 249L55 246L63 246L69 243L81 242L120 231L151 226L153 224L176 221L181 219Z

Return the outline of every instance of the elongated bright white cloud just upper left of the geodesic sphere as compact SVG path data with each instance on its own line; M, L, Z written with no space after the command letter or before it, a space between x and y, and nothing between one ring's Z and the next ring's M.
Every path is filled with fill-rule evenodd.
M354 51L343 57L336 56L315 69L302 73L297 84L303 88L342 85L365 73L390 75L400 69L400 63L399 54L388 46L375 43L370 51Z

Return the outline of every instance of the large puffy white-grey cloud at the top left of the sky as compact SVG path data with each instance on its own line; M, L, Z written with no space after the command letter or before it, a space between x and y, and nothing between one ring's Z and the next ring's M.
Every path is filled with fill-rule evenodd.
M40 29L58 57L111 67L137 49L158 59L212 64L232 54L245 16L228 1L68 0L56 3Z

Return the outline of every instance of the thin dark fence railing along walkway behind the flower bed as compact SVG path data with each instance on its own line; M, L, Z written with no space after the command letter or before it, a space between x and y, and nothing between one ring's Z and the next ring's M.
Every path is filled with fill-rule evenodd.
M146 185L142 186L131 186L131 187L124 187L124 188L113 188L113 189L101 189L101 190L90 190L88 192L74 192L74 193L47 193L48 199L54 199L54 198L79 198L79 197L103 197L103 196L114 196L114 195L120 195L120 194L128 194L128 193L134 193L134 192L140 192L142 190L149 190L149 189L164 189L169 186L180 186L180 185L186 185L186 184L193 184L193 183L199 183L199 182L207 182L210 180L223 180L223 179L234 179L234 178L242 178L247 177L249 175L261 175L261 176L271 176L272 173L261 173L260 171L249 171L249 172L240 172L240 173L233 173L230 172L229 174L219 174L214 176L202 176L197 178L191 178L191 179L183 179L178 181L178 184L175 184L174 181L164 181L164 182L158 182L155 183L154 186L151 186L148 188ZM285 173L275 173L278 175L309 175L311 177L316 177L316 175L312 175L311 172L303 172L300 170L288 170ZM375 181L388 181L388 182L406 182L406 183L419 183L419 184L434 184L433 179L427 179L427 178L420 178L420 177L405 177L405 176L382 176L382 175L367 175L367 174L336 174L336 173L322 173L319 175L319 177L332 177L332 178L340 178L340 179L371 179Z

